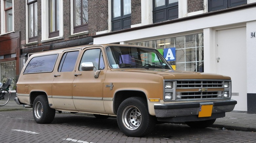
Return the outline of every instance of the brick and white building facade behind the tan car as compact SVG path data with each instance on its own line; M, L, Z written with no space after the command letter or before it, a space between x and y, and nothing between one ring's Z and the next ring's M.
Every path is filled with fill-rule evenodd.
M1 0L0 76L37 52L119 43L158 49L176 70L232 78L235 110L256 113L256 0Z

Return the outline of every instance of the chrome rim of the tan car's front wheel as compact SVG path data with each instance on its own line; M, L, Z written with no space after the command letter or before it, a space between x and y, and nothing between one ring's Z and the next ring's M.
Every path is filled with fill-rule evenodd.
M141 124L141 113L136 106L127 106L122 112L122 122L126 129L136 130Z

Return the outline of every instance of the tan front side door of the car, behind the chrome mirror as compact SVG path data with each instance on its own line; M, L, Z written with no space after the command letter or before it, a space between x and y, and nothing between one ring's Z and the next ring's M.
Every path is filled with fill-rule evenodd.
M84 49L83 55L76 66L76 76L73 82L73 101L78 111L104 113L103 81L105 79L105 64L101 48ZM93 71L82 71L81 63L92 62ZM95 77L95 71L100 72Z

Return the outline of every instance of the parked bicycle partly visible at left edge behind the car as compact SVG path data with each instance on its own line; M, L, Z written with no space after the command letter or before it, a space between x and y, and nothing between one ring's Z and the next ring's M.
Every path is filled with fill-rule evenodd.
M10 86L11 86L11 79L8 79L7 82L4 84L0 83L0 106L4 106L9 102L11 98L11 94L9 91Z

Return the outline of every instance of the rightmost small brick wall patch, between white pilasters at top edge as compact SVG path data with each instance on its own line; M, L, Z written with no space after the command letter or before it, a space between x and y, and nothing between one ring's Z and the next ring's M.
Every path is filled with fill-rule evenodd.
M203 0L187 0L187 12L204 10Z

